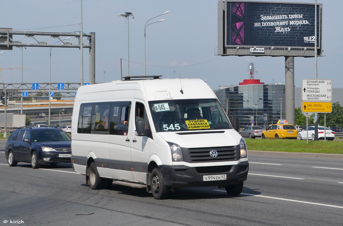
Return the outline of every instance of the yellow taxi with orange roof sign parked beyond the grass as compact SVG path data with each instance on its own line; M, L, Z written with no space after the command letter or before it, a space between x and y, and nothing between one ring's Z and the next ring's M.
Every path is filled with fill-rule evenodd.
M262 139L297 139L298 131L294 125L287 123L287 120L279 120L277 124L269 126L262 132Z

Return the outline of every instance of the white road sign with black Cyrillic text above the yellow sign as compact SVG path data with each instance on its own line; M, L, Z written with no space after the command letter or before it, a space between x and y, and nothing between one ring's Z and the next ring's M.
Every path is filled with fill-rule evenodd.
M303 101L331 101L331 79L303 79L301 82L301 100Z

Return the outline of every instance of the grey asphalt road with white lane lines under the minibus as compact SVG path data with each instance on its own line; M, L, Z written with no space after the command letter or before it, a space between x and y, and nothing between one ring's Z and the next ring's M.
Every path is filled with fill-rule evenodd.
M114 184L92 190L71 164L9 167L0 151L0 225L342 225L342 160L250 154L249 162L240 196L182 188L155 200Z

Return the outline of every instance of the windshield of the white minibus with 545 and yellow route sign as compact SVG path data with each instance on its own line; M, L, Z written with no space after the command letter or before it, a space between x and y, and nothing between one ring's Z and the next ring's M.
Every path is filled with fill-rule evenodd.
M150 101L149 106L157 132L232 129L216 99Z

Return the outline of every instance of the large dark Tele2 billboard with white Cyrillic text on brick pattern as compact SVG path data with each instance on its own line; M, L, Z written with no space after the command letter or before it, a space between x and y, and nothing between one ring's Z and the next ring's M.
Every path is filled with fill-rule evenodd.
M317 54L322 4L317 4ZM218 55L314 56L315 4L218 1Z

